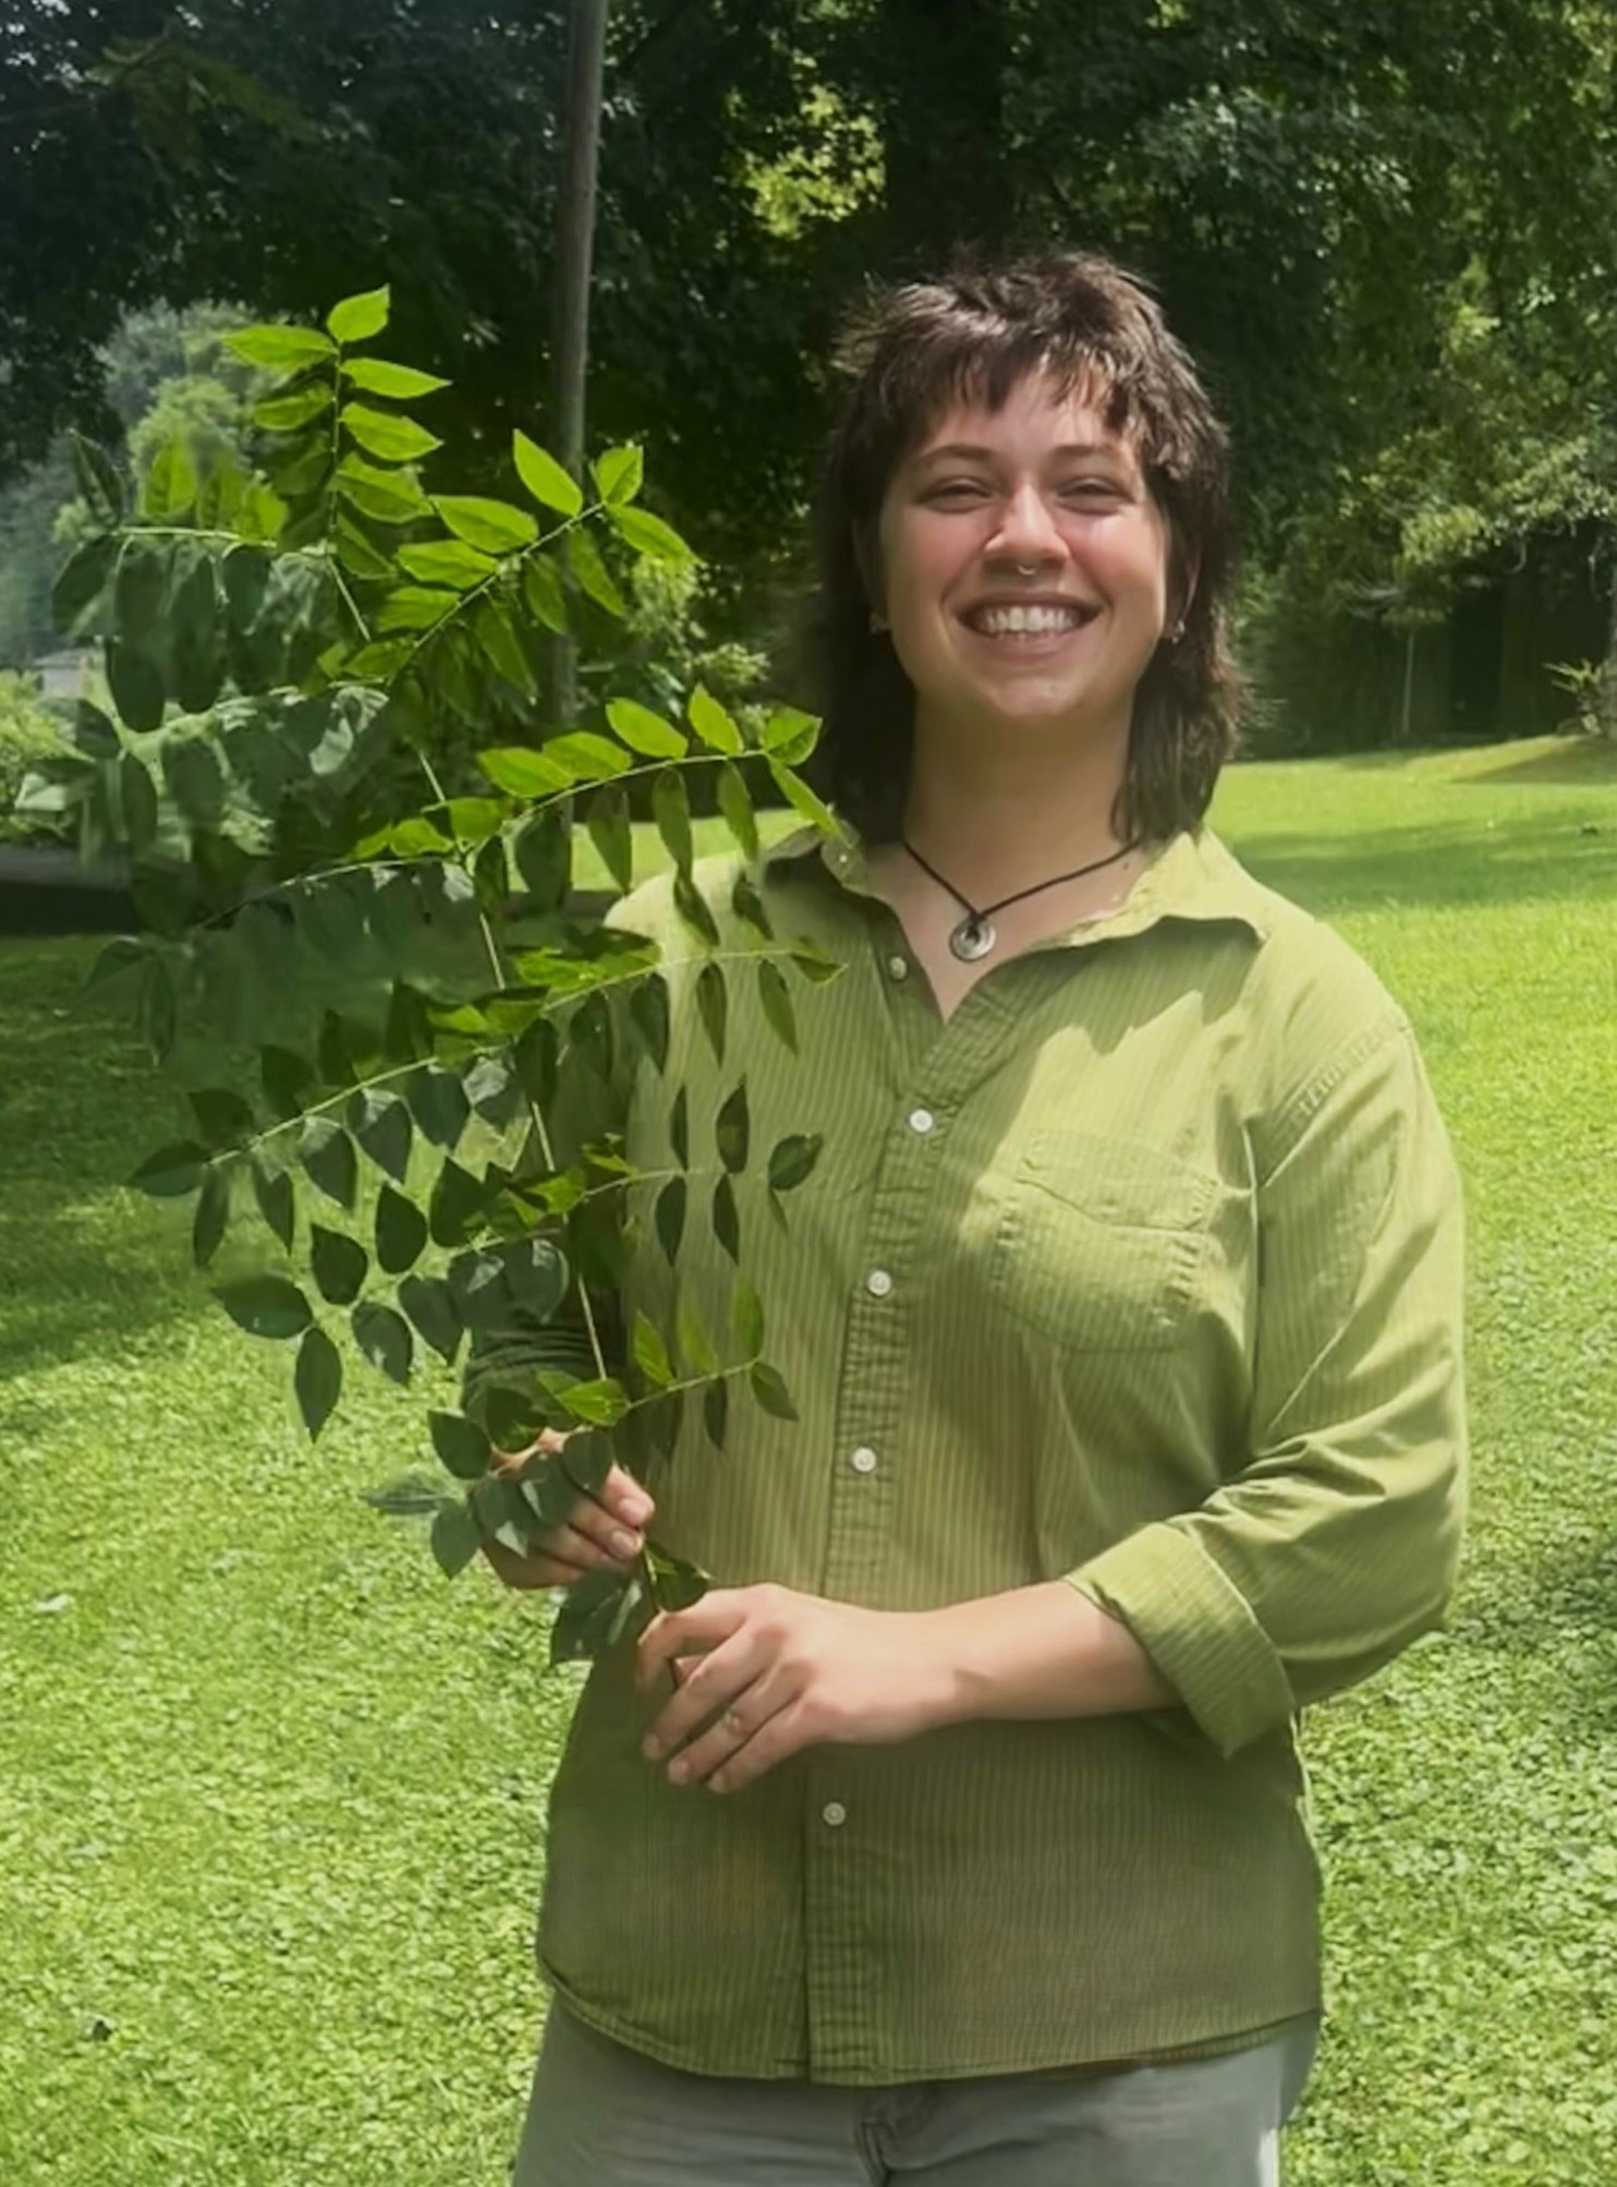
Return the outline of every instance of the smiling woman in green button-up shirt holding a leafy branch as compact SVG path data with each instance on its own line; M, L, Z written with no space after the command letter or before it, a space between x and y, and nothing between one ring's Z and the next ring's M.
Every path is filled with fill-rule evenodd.
M1224 437L1152 300L959 276L846 363L850 840L760 877L846 973L800 1061L739 995L723 1069L677 989L666 1080L826 1135L791 1233L747 1216L802 1419L688 1422L496 1553L568 1583L656 1496L717 1581L579 1704L518 2180L1261 2187L1320 2012L1296 1717L1455 1568L1455 1174L1401 1010L1202 827ZM688 956L662 884L625 921ZM666 1282L636 1255L627 1303Z

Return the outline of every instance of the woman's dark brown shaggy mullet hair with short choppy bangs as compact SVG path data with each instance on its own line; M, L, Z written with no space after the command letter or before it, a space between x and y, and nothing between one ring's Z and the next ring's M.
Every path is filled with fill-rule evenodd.
M876 566L883 496L948 402L999 409L1029 372L1044 370L1062 391L1095 387L1110 431L1132 435L1167 516L1169 601L1184 619L1182 636L1158 645L1136 687L1112 824L1123 838L1195 827L1235 750L1228 448L1154 297L1110 258L1084 252L964 265L942 280L872 289L848 317L835 363L850 387L815 523L811 667L824 730L813 770L822 790L872 840L898 833L916 689L889 639L870 628L863 569Z

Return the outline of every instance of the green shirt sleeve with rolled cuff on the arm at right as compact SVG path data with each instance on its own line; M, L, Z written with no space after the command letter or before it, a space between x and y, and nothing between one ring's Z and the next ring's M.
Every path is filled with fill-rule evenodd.
M1440 1621L1466 1496L1460 1181L1409 1028L1361 1034L1254 1155L1246 1463L1069 1575L1221 1754Z

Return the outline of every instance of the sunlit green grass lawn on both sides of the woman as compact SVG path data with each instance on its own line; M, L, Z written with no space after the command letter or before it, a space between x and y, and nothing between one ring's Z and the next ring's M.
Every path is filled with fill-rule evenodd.
M1215 822L1412 1010L1468 1183L1471 1555L1309 1723L1331 2025L1291 2187L1532 2187L1617 2148L1617 752L1250 765ZM120 1188L168 1094L0 949L0 2183L505 2178L568 1688L356 1489L415 1457Z

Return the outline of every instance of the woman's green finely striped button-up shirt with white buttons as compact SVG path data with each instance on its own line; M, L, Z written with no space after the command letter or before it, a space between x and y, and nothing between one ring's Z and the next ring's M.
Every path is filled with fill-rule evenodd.
M734 864L699 884L725 929ZM802 1411L688 1408L656 1531L719 1583L922 1610L1071 1577L1182 1706L819 1747L675 1791L594 1666L555 1778L540 1955L590 2025L704 2073L826 2082L1228 2049L1320 2001L1298 1710L1431 1627L1462 1518L1462 1216L1394 1002L1211 831L990 971L944 1024L859 844L763 866L846 962L802 1056L732 982L717 1069L666 881L666 1091L745 1072L754 1146L822 1131L782 1236L743 1179L767 1352ZM649 1069L649 1065L647 1065ZM712 1144L693 1144L712 1170ZM710 1328L730 1264L693 1223ZM625 1308L669 1317L634 1249Z

